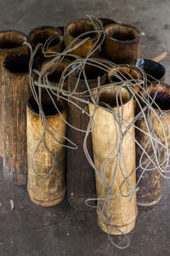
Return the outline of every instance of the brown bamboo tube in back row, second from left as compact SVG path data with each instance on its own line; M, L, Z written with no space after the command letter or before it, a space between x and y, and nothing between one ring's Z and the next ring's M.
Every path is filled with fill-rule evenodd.
M35 27L31 30L31 32L29 32L28 38L33 48L35 48L39 43L44 45L46 41L51 38L51 42L49 39L50 43L47 44L47 47L44 49L45 51L61 52L64 49L63 33L59 30L59 28L54 26ZM40 49L37 51L36 56L39 62L43 62L45 60L42 54L42 47L40 47Z

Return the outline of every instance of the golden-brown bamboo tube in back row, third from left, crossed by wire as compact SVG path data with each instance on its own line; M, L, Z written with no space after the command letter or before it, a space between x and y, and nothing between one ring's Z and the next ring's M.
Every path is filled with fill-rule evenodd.
M96 23L96 26L97 23ZM84 38L89 38L87 42L77 47L77 49L73 49L71 51L71 54L73 55L79 55L82 58L85 58L88 55L88 52L94 44L96 44L96 41L98 40L99 36L95 31L96 28L94 27L94 24L90 20L73 20L70 23L65 26L65 47L69 46L71 42L80 36L84 32L89 32L87 35L83 35L82 37L77 38L77 41L72 44L71 48L76 46L78 43L80 43ZM93 55L90 55L91 57L98 56L99 55L99 49L95 50Z

